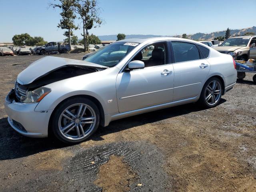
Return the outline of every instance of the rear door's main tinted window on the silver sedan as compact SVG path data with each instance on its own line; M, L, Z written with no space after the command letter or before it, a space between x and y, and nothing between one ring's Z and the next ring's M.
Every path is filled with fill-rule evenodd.
M172 42L175 62L200 59L200 52L195 44L188 42Z

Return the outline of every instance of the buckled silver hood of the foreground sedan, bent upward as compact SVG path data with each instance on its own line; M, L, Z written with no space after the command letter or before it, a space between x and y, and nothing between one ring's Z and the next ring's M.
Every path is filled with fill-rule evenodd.
M88 68L106 69L108 67L68 58L46 56L39 60L36 60L30 64L25 70L20 72L17 77L17 81L22 84L30 84L34 80L46 76L50 72L58 70L65 66L84 66Z

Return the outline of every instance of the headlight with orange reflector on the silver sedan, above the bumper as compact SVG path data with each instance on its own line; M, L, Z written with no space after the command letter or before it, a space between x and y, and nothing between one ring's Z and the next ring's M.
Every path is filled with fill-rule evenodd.
M51 91L52 90L50 88L40 87L35 89L34 91L29 91L26 97L21 96L20 101L22 103L38 103Z

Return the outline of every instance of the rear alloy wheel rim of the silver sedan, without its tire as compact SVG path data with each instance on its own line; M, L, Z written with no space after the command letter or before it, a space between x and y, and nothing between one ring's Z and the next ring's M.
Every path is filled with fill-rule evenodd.
M213 80L211 81L205 90L205 100L210 106L216 104L221 97L221 85L220 82Z

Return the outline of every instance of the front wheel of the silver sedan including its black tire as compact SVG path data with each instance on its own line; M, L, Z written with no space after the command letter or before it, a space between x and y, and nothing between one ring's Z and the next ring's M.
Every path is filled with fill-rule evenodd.
M81 117L77 116L80 106L82 106L80 115L84 114ZM67 110L69 113L66 112ZM89 119L82 120L86 117ZM96 104L87 98L70 98L56 108L50 124L56 138L64 143L76 144L86 140L97 130L100 124L100 112Z

